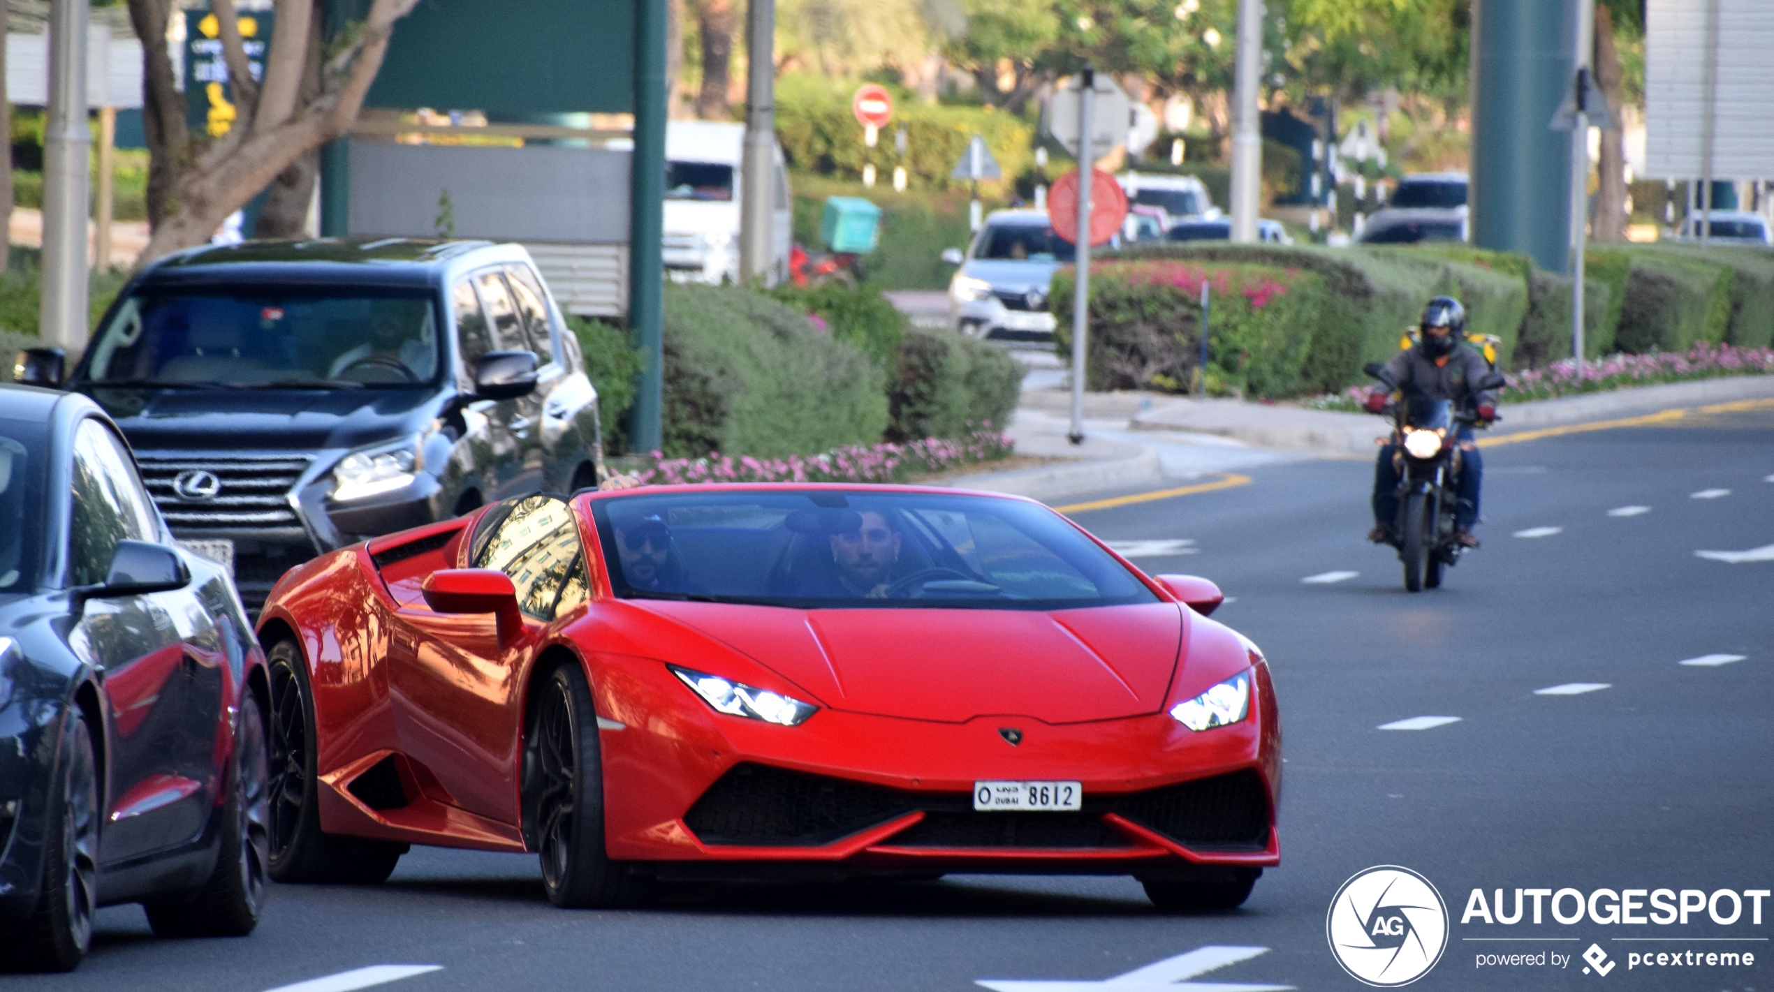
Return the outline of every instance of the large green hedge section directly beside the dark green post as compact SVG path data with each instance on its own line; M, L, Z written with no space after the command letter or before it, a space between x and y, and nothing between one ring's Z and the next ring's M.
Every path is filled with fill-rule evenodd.
M750 289L665 286L665 444L775 458L873 444L883 373L857 348Z

